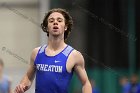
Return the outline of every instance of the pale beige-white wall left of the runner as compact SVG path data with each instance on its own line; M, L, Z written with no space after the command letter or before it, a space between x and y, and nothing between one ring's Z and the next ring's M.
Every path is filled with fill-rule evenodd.
M41 29L34 23L40 23L39 13L38 0L0 1L0 57L5 63L5 74L12 78L12 89L26 72L29 63L25 61L29 62L32 50L43 41ZM33 91L34 84L27 93Z

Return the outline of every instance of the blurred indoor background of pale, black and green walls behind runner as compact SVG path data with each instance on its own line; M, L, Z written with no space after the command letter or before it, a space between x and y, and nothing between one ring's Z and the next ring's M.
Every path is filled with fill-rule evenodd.
M45 13L64 8L72 16L67 43L79 50L97 93L123 93L124 81L140 78L139 0L0 0L0 58L12 89L29 67L35 47L47 43ZM135 75L134 75L135 74ZM124 78L125 77L125 78ZM82 93L74 74L70 93ZM26 93L34 93L34 83Z

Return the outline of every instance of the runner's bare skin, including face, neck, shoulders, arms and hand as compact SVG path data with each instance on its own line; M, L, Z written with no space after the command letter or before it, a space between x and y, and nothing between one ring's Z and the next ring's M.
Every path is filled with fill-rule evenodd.
M54 27L57 27L58 29L54 29ZM48 56L55 56L67 46L67 44L64 42L64 31L67 29L67 26L65 25L65 18L63 15L58 12L52 13L48 18L47 29L49 31L49 37L47 44L48 47L46 48L45 53ZM21 80L20 84L16 87L15 93L24 93L30 88L36 73L34 61L38 50L39 47L33 50L31 54L30 67ZM71 72L74 68L74 71L82 83L82 92L92 93L91 84L89 82L84 65L85 63L82 54L77 50L72 51L68 57L66 69L68 72Z

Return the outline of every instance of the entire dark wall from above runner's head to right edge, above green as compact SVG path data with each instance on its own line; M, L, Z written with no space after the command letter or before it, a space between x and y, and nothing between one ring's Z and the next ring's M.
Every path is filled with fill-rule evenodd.
M140 66L139 1L136 0L137 68ZM129 67L128 0L51 1L51 8L65 8L74 28L68 43L81 51L88 67ZM132 40L133 41L133 40ZM133 41L135 42L135 41ZM97 62L95 62L95 60Z

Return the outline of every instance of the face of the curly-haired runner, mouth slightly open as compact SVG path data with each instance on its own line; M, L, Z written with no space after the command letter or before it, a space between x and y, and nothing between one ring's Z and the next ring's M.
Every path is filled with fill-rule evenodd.
M65 18L61 13L54 12L48 17L48 32L49 35L59 36L64 35L66 29Z

